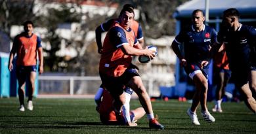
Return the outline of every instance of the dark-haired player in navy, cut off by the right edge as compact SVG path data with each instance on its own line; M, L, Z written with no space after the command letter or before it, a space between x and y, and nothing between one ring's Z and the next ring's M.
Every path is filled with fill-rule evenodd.
M245 95L245 104L256 112L256 101L252 95L256 90L256 30L240 24L239 16L236 8L224 10L223 28L219 31L217 39L219 44L224 42L234 82ZM218 49L219 46L216 50Z

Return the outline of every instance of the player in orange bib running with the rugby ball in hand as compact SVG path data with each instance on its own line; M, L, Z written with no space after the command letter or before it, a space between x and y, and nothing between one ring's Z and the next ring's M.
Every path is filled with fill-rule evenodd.
M139 96L144 108L150 128L163 129L154 118L150 97L137 71L130 71L131 56L148 56L154 58L154 51L139 49L134 31L130 28L134 12L132 8L123 8L120 12L120 22L114 24L108 31L103 44L100 58L99 73L103 86L114 98L114 109L119 114L125 104L123 87L132 88Z

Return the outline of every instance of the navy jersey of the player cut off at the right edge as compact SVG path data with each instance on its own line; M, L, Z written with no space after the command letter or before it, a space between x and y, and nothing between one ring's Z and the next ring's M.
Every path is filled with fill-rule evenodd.
M253 27L241 24L236 31L221 29L217 39L225 44L230 69L248 69L256 63L256 30Z

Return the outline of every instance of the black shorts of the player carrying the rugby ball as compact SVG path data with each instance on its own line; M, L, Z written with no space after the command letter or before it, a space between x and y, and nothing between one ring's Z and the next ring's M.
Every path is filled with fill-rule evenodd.
M125 85L134 76L140 76L136 69L129 68L126 69L125 73L121 76L108 76L100 73L100 78L102 80L102 85L110 92L112 97L116 98L121 95L124 91Z

